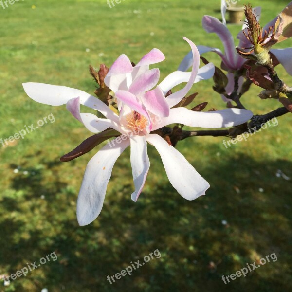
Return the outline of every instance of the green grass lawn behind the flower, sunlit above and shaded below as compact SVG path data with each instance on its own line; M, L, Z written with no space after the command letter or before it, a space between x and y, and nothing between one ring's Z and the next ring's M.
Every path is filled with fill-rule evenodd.
M89 64L108 66L122 53L137 62L156 47L164 52L161 78L176 70L189 51L182 37L197 45L222 48L206 34L201 18L220 18L219 0L125 0L110 8L106 0L25 0L0 6L0 138L53 114L54 123L0 145L0 275L55 251L58 259L19 277L1 292L288 292L292 290L292 115L226 149L222 137L196 137L177 146L211 184L206 196L183 199L169 183L161 159L149 146L151 167L139 201L133 191L129 149L114 166L101 215L80 227L76 199L87 162L101 146L68 163L59 157L91 133L65 106L38 104L23 82L65 85L93 93ZM243 2L243 1L241 1ZM262 24L289 1L253 0L262 5ZM34 5L34 6L33 6ZM240 26L228 25L234 36ZM292 46L287 40L278 47ZM89 49L89 52L86 52ZM219 57L204 55L219 66ZM288 84L292 77L277 71ZM224 109L213 81L196 84L194 105ZM255 114L279 107L259 100L252 87L242 102ZM17 169L17 170L16 170ZM227 224L222 224L226 220ZM111 284L108 275L159 249L131 276ZM246 277L225 285L222 275L275 253Z

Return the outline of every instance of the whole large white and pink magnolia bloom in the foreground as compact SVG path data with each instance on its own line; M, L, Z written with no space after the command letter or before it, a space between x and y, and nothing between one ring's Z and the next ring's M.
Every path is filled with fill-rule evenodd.
M208 75L198 76L200 55L190 40L193 54L192 71L172 73L157 87L159 70L149 70L149 65L164 60L163 53L153 49L132 67L126 55L121 55L111 66L105 83L115 92L120 114L115 114L103 102L92 95L73 88L41 83L24 83L29 97L48 105L67 104L67 109L93 133L112 128L121 135L103 146L87 164L77 200L77 219L80 225L90 224L100 214L114 163L130 146L135 191L132 200L137 201L149 170L147 142L159 152L167 177L173 187L187 200L194 200L210 187L183 155L161 136L151 133L173 123L191 127L221 128L242 124L252 117L249 110L226 109L196 112L186 108L173 108L190 90L193 83ZM207 68L211 68L209 65ZM206 69L206 68L205 68ZM206 70L205 70L206 71ZM208 70L207 70L208 71ZM214 72L213 72L214 73ZM210 76L213 74L209 73ZM187 81L185 87L165 98L169 88ZM171 84L171 85L169 85ZM155 89L152 89L154 88ZM105 118L91 113L81 113L80 104L98 110Z

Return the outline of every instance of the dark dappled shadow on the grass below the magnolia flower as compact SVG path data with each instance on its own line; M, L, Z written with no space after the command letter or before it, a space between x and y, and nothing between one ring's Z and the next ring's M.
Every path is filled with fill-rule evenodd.
M170 183L161 180L155 185L148 183L151 189L146 187L138 203L133 203L129 199L132 185L127 180L119 183L114 174L112 180L117 183L108 190L101 215L84 227L76 222L72 212L75 205L70 204L73 196L62 182L58 163L43 164L43 169L35 169L33 180L20 176L12 183L16 191L25 190L25 200L35 202L25 209L24 216L30 222L5 219L0 223L1 262L14 273L21 267L23 255L26 260L31 255L34 261L56 251L58 260L42 266L43 275L33 271L26 280L15 280L16 291L23 291L23 287L31 287L30 291L47 287L54 292L292 289L292 182L275 176L278 168L291 174L289 162L259 164L239 155L206 166L201 175L208 178L211 189L195 201L184 200ZM123 167L118 160L114 169ZM45 170L54 173L48 185L42 184ZM148 179L151 182L151 177ZM41 215L37 210L42 208L40 189L42 194L56 196ZM20 208L9 198L4 198L2 205L9 212ZM222 220L226 222L222 224ZM15 243L16 237L24 237L26 229L29 237ZM154 256L115 283L107 281L108 275L119 273L131 261L140 259L142 263L143 257L156 249L160 258ZM222 275L235 273L246 263L258 264L260 258L274 252L277 261L226 285L221 280Z

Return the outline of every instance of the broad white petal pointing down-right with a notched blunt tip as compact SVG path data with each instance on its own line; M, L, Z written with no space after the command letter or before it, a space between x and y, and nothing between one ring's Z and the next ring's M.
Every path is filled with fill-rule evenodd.
M159 152L169 182L183 198L194 200L205 195L210 187L209 183L189 164L183 154L157 134L147 135L146 140Z

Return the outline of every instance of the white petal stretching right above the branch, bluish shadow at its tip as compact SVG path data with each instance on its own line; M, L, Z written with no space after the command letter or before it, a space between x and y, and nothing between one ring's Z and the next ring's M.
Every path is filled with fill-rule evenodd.
M200 128L227 128L245 123L253 116L250 110L225 109L217 111L192 111L186 108L170 109L169 116L161 119L161 123L154 125L152 130L170 124L183 124Z

